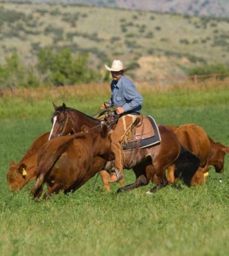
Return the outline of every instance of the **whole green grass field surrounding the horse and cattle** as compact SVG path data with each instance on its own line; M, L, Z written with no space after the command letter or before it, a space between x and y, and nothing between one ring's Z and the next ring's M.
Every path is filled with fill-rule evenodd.
M92 115L108 99L107 85L86 86L6 93L0 98L0 255L227 255L229 156L223 174L211 168L205 184L181 184L181 191L168 186L146 195L149 184L117 195L118 184L107 193L96 177L75 193L41 202L29 198L34 182L22 191L10 191L10 161L19 161L36 137L50 131L52 101ZM229 146L228 83L139 90L144 115L161 124L198 124ZM124 175L126 184L135 180L131 170Z

